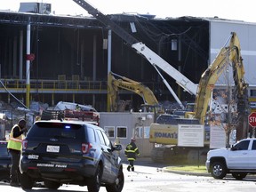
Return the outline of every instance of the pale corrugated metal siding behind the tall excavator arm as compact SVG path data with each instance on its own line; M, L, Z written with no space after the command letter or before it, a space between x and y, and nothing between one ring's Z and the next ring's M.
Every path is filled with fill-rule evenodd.
M245 79L250 86L256 85L256 24L244 21L211 20L210 28L210 63L215 59L220 48L225 45L231 32L236 32L244 59ZM230 75L232 75L230 73ZM217 84L224 79L220 78Z

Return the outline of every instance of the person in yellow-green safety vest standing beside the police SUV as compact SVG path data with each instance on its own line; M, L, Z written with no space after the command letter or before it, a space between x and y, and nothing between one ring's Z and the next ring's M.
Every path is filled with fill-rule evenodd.
M26 121L21 119L18 124L14 124L12 131L9 136L7 148L12 155L12 167L11 167L11 182L10 185L13 187L19 187L20 177L20 151L22 145L22 134L27 132Z

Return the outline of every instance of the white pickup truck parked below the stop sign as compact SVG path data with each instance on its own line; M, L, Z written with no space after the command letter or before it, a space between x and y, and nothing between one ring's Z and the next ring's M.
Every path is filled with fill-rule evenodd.
M205 166L215 179L231 173L243 180L248 173L256 173L256 138L238 141L231 148L212 149L207 153Z

